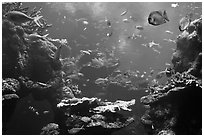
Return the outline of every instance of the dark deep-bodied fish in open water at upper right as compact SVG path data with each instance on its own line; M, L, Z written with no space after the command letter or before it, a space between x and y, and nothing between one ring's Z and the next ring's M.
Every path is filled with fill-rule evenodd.
M166 10L164 11L153 11L149 14L148 23L154 26L162 25L167 23L169 18L167 17Z

